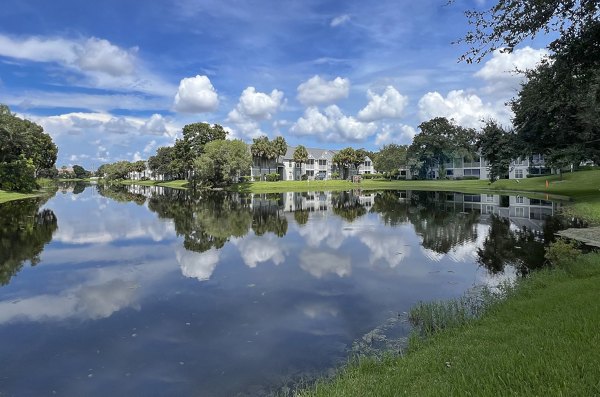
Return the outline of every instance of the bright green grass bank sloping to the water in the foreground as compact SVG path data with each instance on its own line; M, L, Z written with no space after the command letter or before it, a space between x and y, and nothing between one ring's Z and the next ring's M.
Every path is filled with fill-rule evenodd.
M480 319L404 357L363 359L302 396L600 394L600 254L523 279Z

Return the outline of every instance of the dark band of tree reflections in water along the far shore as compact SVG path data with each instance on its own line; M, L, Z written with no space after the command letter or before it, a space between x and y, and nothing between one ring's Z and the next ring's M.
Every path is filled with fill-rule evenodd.
M117 201L146 202L143 194L132 193L125 187L99 187L100 194ZM146 192L148 193L148 192ZM163 189L150 194L148 208L159 218L172 219L175 231L183 236L186 249L205 252L222 248L232 237L243 237L252 230L255 235L273 233L283 237L288 231L284 208L294 209L293 217L299 226L309 221L309 213L328 211L347 222L367 214L360 192L317 193L318 208L303 208L303 200L315 200L313 194L294 193L292 205L286 205L283 194L244 195L229 192L190 192ZM327 197L330 203L327 205ZM324 201L323 201L324 200ZM507 201L507 200L505 200ZM288 203L289 204L289 203ZM505 208L500 205L501 208ZM498 215L481 219L481 206L454 206L445 192L383 191L374 195L370 213L379 214L390 226L410 224L421 237L423 248L448 254L457 247L475 244L478 225L489 224L489 233L476 248L477 261L490 273L504 271L506 265L526 274L544 265L544 247L554 240L556 231L578 226L575 220L549 216L543 230L517 227L511 220ZM581 226L581 225L579 225Z

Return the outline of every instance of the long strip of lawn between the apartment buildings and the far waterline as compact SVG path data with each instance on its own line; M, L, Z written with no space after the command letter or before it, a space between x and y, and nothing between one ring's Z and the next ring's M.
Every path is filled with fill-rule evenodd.
M546 187L548 181L548 187ZM244 193L284 193L315 190L438 190L463 193L525 193L528 196L572 199L566 211L587 221L600 224L600 170L579 171L560 176L504 179L494 183L474 181L388 181L366 179L361 183L348 181L279 181L247 182L232 185L230 190Z

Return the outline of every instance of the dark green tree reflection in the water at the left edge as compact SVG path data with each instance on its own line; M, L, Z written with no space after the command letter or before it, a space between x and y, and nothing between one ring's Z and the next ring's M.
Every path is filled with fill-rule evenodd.
M0 285L6 285L29 261L40 261L44 246L58 228L56 215L40 211L46 200L28 199L0 204Z

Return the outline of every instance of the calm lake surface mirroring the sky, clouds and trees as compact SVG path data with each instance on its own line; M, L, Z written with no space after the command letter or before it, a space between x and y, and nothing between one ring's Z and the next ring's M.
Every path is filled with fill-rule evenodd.
M567 226L556 210L84 185L1 204L0 396L276 391L368 349L374 330L406 336L394 319L420 300L541 266Z

